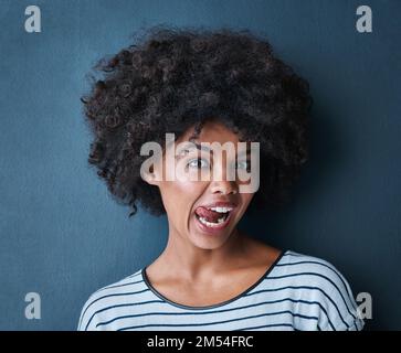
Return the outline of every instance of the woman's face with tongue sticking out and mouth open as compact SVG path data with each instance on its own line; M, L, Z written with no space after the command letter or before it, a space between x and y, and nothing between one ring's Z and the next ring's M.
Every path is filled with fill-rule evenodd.
M168 159L165 151L162 169L158 165L154 170L159 181L152 184L157 184L160 190L170 235L183 237L199 248L215 249L233 234L254 195L254 193L240 193L240 184L246 182L228 174L230 168L235 175L238 169L249 171L251 157L246 153L238 157L239 137L217 120L209 120L199 137L190 141L192 133L193 128L180 136L173 146L167 148L166 151L173 148L178 154L175 164L166 162ZM192 148L186 147L182 142ZM211 152L209 152L193 148L193 145L188 142L197 145L218 142L214 146L232 142L234 153L218 153L213 146L210 146ZM161 172L165 178L160 178ZM181 173L180 178L177 178L178 173Z

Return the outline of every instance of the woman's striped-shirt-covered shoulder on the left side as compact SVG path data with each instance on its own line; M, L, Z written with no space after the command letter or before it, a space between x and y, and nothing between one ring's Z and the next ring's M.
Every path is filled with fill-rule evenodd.
M102 330L99 324L107 322L119 308L131 306L143 300L147 287L141 277L141 269L124 279L95 291L81 310L78 331Z

